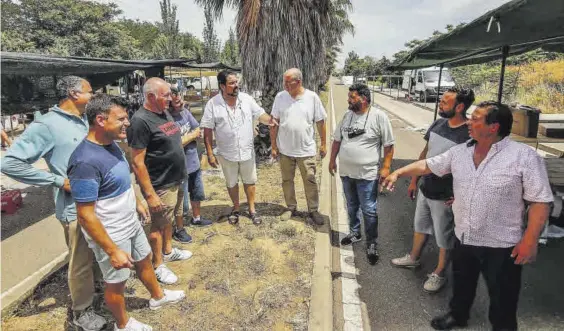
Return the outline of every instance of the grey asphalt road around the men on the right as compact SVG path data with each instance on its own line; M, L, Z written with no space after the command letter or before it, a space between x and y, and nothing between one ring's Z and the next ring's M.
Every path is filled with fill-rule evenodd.
M347 86L333 85L337 122L347 109L347 92ZM397 169L417 159L424 140L421 133L404 129L407 125L403 121L390 118L396 139L393 168ZM368 264L364 242L354 247L359 296L372 330L430 330L431 318L446 312L451 295L450 284L433 295L422 289L438 254L432 238L422 254L421 268L413 271L390 264L392 258L411 249L415 203L407 197L408 184L408 179L401 179L393 193L378 199L380 262ZM525 267L518 312L521 330L564 330L563 257L564 240L551 240L540 248L537 262ZM490 329L488 305L487 290L480 280L467 330Z

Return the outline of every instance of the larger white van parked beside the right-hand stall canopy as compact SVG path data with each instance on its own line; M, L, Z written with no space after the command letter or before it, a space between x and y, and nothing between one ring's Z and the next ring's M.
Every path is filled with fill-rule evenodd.
M437 91L440 70L439 67L406 70L403 73L401 88L408 91L409 94L415 94L415 97L421 102L440 98L444 92L455 85L448 68L443 68L440 91Z

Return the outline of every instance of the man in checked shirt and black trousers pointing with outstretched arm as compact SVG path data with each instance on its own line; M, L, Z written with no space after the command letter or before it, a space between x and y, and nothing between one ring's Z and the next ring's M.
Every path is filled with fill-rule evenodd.
M399 177L452 174L454 284L449 312L431 321L436 330L467 326L480 273L490 295L492 330L517 330L521 272L537 256L554 197L544 160L509 138L512 124L507 105L482 102L468 121L472 140L400 168L382 184L391 191Z

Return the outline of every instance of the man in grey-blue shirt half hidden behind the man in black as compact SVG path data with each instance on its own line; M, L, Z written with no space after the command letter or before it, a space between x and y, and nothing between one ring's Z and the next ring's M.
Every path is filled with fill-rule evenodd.
M172 88L172 118L180 127L180 135L182 137L182 145L186 155L186 179L184 180L183 191L183 210L184 216L176 218L176 229L172 235L174 240L189 243L192 238L184 229L184 217L188 217L190 205L192 205L192 226L210 226L212 222L200 216L200 204L206 196L204 194L204 182L202 181L202 171L200 170L200 158L198 156L197 139L200 137L200 125L186 108L179 91Z

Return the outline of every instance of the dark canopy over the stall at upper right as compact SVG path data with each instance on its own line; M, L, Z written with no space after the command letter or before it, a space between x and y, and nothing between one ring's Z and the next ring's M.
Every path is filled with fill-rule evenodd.
M513 0L412 50L395 69L479 64L542 47L564 52L564 0Z

